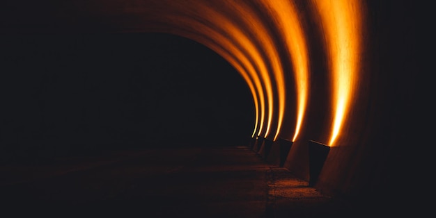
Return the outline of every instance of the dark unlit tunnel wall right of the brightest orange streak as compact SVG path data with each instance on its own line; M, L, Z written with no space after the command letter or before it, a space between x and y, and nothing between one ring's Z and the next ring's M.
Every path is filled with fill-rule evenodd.
M352 111L348 137L332 147L318 189L355 198L409 199L398 190L415 184L414 144L419 130L416 106L416 21L410 2L369 1L369 31L359 103ZM409 127L406 127L409 126ZM409 176L405 176L405 174ZM415 175L410 177L411 175ZM412 178L412 179L410 179ZM415 181L415 182L414 182Z

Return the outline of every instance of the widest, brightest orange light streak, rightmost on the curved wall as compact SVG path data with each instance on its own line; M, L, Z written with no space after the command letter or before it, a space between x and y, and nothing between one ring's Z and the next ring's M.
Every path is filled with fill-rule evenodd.
M325 31L332 71L333 126L329 146L334 146L350 110L361 49L361 5L357 0L315 0Z

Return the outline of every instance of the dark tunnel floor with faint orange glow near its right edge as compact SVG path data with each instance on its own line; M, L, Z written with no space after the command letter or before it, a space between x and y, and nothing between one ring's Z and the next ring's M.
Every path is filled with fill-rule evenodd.
M123 217L356 217L249 147L144 149L0 168L3 208Z

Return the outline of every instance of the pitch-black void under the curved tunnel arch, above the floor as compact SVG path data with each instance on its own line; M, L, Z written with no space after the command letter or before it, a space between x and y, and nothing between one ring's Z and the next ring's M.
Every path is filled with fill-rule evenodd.
M242 76L183 37L2 35L0 44L2 162L240 146L254 128Z

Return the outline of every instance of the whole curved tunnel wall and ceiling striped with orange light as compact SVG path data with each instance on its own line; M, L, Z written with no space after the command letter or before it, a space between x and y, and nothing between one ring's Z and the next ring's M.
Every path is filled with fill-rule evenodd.
M272 160L290 142L281 165L309 181L308 144L318 142L329 147L318 190L389 199L418 174L414 13L412 1L7 1L0 26L2 34L168 33L199 42L247 83L254 150Z

